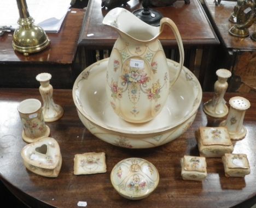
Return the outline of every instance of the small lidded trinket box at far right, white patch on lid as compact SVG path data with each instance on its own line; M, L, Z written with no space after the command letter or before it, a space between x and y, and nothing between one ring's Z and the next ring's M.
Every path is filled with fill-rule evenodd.
M225 154L222 157L226 177L245 177L251 169L246 154Z

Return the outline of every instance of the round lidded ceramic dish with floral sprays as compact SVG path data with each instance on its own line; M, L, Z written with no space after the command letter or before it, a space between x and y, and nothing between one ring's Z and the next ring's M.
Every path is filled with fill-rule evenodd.
M110 174L117 192L127 199L143 199L151 194L159 183L156 167L142 158L127 158L117 163Z

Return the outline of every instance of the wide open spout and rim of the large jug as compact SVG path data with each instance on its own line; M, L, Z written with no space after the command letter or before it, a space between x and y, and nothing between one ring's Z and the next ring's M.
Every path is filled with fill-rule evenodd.
M124 8L110 10L102 23L115 29L121 37L139 42L153 41L160 34L159 27L148 25Z

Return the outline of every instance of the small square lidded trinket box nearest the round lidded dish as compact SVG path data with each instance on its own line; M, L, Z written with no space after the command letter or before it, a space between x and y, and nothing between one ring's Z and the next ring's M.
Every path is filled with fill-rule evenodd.
M201 181L207 176L205 157L184 155L181 158L181 167L183 180Z

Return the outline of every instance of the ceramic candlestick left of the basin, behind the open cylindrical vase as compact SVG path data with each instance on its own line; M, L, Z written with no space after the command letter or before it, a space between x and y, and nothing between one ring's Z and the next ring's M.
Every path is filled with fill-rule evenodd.
M36 76L36 79L41 84L39 91L44 102L44 120L52 122L60 119L63 115L63 108L55 104L53 100L53 86L50 84L51 75L49 73L41 73Z

